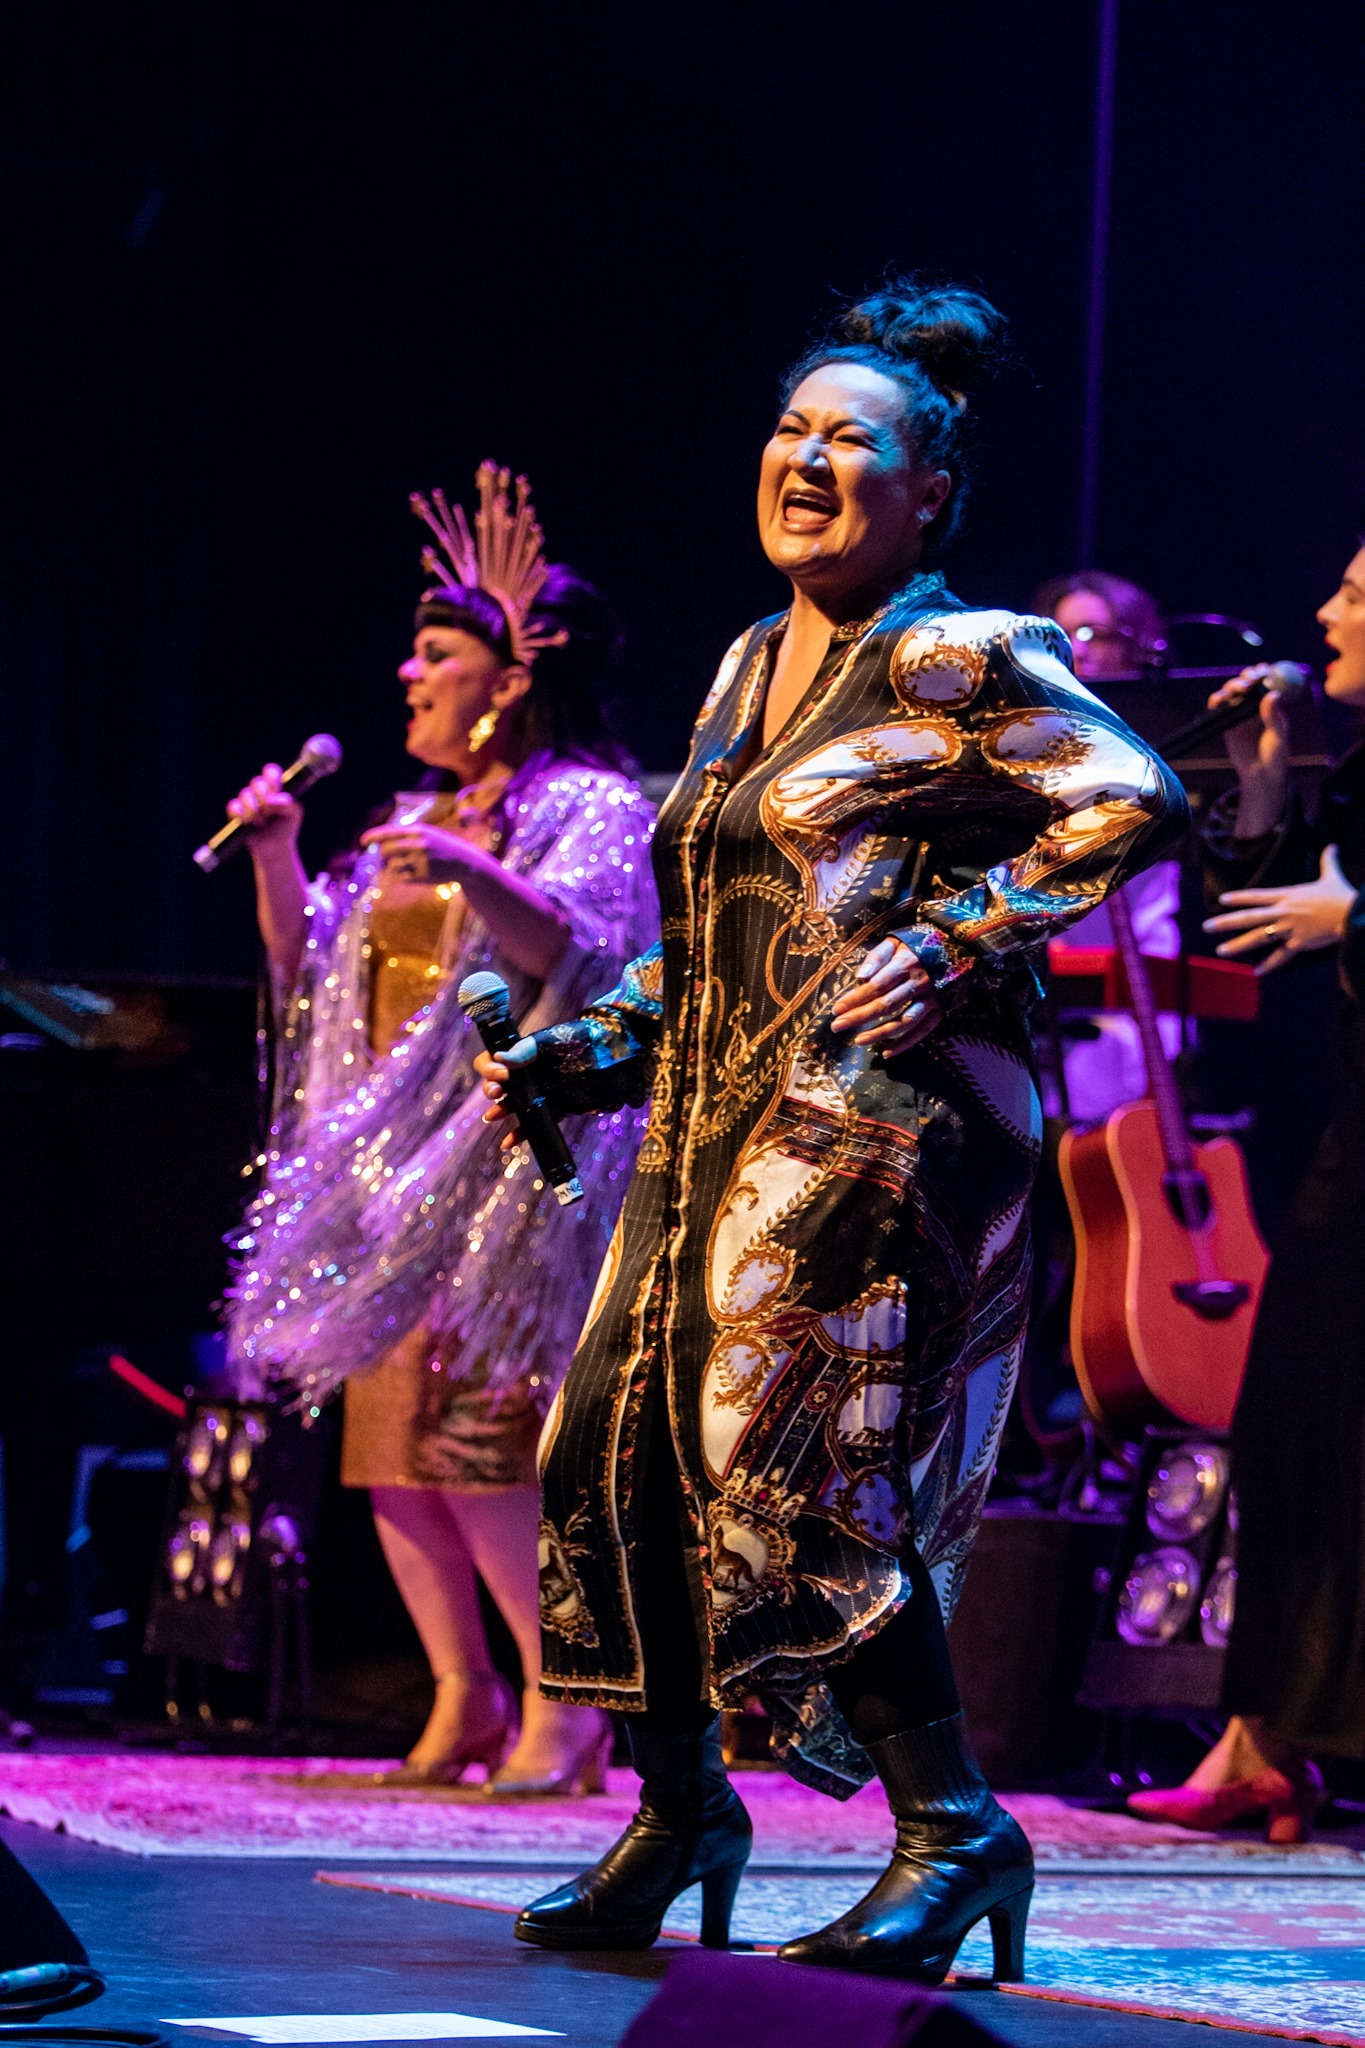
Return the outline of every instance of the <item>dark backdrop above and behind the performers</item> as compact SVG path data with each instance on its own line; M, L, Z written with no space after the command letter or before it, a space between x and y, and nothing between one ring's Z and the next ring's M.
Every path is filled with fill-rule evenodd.
M405 496L532 475L677 764L729 639L778 371L886 262L978 283L1019 369L952 563L1074 565L1093 0L29 0L0 14L0 952L252 971L188 860L262 758L403 778ZM1361 8L1124 8L1101 561L1314 655L1365 512Z

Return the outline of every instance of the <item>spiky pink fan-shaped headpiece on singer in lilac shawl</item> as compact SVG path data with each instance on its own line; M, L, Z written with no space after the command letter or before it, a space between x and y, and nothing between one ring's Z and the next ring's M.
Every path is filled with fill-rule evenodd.
M448 596L458 604L460 592L483 590L501 606L508 621L512 659L530 666L542 647L563 647L569 639L563 627L551 633L542 625L526 623L548 575L544 535L530 502L530 483L526 477L516 479L516 506L510 502L510 469L479 463L477 483L479 510L473 532L465 506L450 508L444 492L432 492L430 500L422 492L409 498L413 512L426 520L440 547L440 553L436 547L422 549L422 567L438 580L434 590L424 592L424 600Z

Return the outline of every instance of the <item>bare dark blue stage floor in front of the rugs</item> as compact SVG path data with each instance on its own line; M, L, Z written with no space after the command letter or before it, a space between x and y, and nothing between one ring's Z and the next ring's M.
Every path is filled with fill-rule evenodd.
M555 1956L514 1942L503 1913L317 1884L305 1860L139 1858L10 1821L0 1833L108 1976L106 1997L74 2017L166 2023L184 2048L205 2030L176 2021L276 2013L463 2013L544 2030L567 2048L612 2048L675 1948ZM1197 2048L1201 2038L1181 2019L988 1989L952 1997L1001 2040L1027 2048ZM334 2034L323 2028L313 2038L338 2036L340 2019Z

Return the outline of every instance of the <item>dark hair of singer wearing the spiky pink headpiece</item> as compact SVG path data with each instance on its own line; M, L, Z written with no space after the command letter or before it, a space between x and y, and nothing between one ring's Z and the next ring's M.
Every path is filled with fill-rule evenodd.
M530 690L522 713L526 754L546 748L561 758L577 758L604 768L626 766L624 750L612 739L604 686L620 653L620 627L602 592L577 569L555 561L530 608L532 625L567 633L561 647L542 647L530 670ZM499 662L512 662L508 621L497 598L485 590L465 590L456 598L424 598L415 616L422 627L458 627L473 633Z

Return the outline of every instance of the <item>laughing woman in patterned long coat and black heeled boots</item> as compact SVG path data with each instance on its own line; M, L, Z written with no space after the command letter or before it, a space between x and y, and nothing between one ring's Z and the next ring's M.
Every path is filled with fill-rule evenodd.
M626 1710L643 1798L526 1942L645 1946L698 1880L726 1939L751 1831L716 1708L759 1692L792 1772L876 1772L896 1815L868 1898L784 1954L937 1980L988 1915L1021 1970L1031 1853L966 1749L943 1616L1023 1335L1031 958L1185 807L1056 625L923 567L999 328L907 283L792 371L757 506L792 606L702 707L663 944L514 1053L563 1110L653 1087L540 1452L544 1686ZM508 1065L477 1065L505 1114Z

